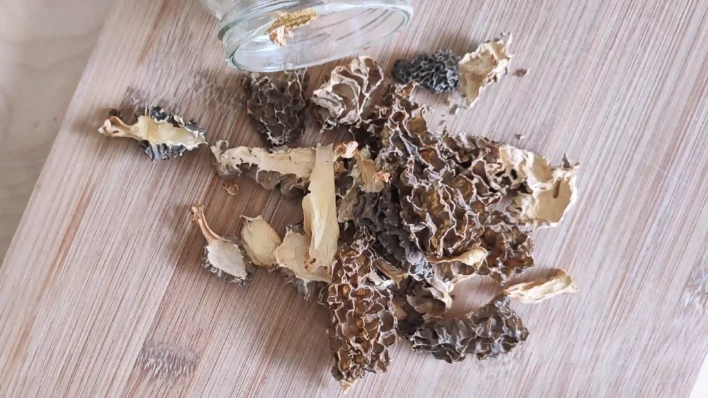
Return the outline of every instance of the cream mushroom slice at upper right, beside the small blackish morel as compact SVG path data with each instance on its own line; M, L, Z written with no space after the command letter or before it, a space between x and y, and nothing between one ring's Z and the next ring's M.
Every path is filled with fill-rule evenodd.
M459 62L461 77L459 89L467 98L467 106L472 108L482 91L491 83L499 81L509 72L511 55L507 46L511 36L486 42L474 52L465 55Z

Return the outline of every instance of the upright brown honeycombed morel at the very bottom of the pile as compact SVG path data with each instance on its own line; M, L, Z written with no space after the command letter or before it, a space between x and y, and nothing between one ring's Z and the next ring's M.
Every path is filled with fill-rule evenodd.
M320 301L332 314L327 329L332 375L348 389L366 373L385 372L388 348L398 341L392 293L375 282L372 240L360 230L339 249L331 285Z

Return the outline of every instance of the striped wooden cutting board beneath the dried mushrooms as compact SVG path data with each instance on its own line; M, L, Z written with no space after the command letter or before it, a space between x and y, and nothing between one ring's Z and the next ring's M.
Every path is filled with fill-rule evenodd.
M581 161L581 200L537 232L537 269L581 292L515 309L527 343L500 360L448 365L399 343L388 373L347 397L685 397L708 351L707 7L702 1L416 1L405 33L365 54L466 52L515 35L513 67L455 132ZM218 232L264 215L301 219L251 181L227 195L207 149L151 163L98 135L108 108L159 104L210 140L260 142L197 1L115 4L0 269L5 397L330 397L326 309L277 274L245 288L200 268L188 208ZM319 83L333 65L314 68ZM313 84L314 86L314 84ZM38 109L42 112L42 109ZM514 135L525 140L514 141ZM303 145L341 139L313 127ZM458 291L457 311L498 291Z

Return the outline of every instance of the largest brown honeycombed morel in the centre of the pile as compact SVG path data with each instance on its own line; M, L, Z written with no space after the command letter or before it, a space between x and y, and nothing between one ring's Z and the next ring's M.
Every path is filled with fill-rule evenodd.
M423 108L409 96L406 87L394 91L377 157L392 176L392 203L386 203L390 218L400 218L389 225L401 225L404 239L425 256L460 256L479 246L486 205L503 196L496 188L501 184L492 183L495 176L485 167L494 144L476 139L462 147L445 134L430 132Z

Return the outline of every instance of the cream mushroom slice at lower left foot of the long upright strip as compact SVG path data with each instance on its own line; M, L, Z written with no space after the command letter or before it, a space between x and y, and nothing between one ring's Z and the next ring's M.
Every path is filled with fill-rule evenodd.
M307 271L309 247L310 237L304 234L302 227L290 227L282 244L275 249L275 269L285 276L286 282L297 289L299 295L312 301L331 283L332 275L324 268Z

